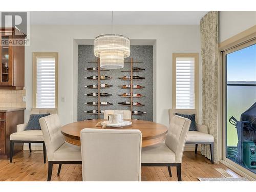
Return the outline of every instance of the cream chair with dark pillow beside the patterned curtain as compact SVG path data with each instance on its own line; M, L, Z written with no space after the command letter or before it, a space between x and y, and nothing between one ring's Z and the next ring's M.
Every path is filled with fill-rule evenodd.
M196 114L196 127L197 131L188 131L186 144L196 144L195 154L197 154L198 144L209 144L211 163L214 164L214 136L208 133L208 127L206 125L198 124L197 110L195 109L169 109L169 122L172 121L173 115L176 113L192 115Z

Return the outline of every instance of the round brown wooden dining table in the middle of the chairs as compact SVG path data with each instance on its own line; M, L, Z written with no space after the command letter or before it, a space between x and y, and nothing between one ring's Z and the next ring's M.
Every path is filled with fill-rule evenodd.
M80 146L80 132L84 128L102 129L101 126L95 126L100 121L106 119L95 119L87 121L77 121L61 127L61 133L64 139L71 144ZM129 126L123 126L118 129L135 129L140 130L142 134L142 147L157 144L165 139L167 127L160 123L151 121L129 119L132 122ZM106 126L105 129L117 129L116 127Z

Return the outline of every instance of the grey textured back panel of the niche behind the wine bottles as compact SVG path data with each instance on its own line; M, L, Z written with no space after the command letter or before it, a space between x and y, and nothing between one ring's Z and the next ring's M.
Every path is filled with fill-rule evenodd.
M141 94L142 97L133 97L133 102L139 102L143 106L133 106L133 111L146 112L142 115L132 115L133 119L153 120L153 46L131 46L130 57L124 59L124 68L100 71L100 75L112 77L111 79L100 80L101 84L109 84L113 87L100 89L100 93L112 94L108 97L100 97L101 102L109 102L112 105L100 105L100 110L130 110L130 105L121 105L119 102L129 102L130 97L122 97L120 94L130 93L130 89L121 89L120 86L131 84L130 80L122 80L119 77L131 76L131 58L133 68L145 69L133 71L133 76L145 77L141 80L133 80L133 85L143 86L142 89L133 89L134 94ZM78 93L77 93L77 120L97 119L98 114L84 113L85 111L98 110L97 105L84 104L97 102L98 97L90 97L84 94L98 93L98 89L90 89L84 86L98 84L98 80L85 79L84 77L98 76L98 71L84 70L85 68L97 68L97 57L94 56L93 45L78 45ZM141 62L141 63L136 63ZM100 115L103 118L103 115Z

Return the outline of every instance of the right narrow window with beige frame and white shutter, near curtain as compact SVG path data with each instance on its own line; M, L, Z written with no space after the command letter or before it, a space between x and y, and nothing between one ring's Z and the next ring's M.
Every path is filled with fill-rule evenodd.
M198 109L198 53L173 54L173 108Z

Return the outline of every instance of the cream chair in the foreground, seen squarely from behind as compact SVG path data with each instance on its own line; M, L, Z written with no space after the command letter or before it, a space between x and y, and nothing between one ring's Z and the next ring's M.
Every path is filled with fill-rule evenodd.
M83 181L140 181L139 130L83 129Z

